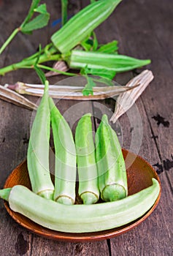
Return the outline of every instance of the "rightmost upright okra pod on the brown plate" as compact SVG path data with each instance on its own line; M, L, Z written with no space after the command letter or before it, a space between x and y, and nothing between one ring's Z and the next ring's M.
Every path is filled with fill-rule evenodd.
M99 189L104 201L120 200L128 195L126 165L118 137L103 115L96 130L96 163Z

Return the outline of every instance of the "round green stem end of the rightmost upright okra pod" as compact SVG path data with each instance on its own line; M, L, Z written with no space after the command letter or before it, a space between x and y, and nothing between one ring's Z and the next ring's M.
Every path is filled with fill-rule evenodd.
M101 192L101 199L108 202L126 197L126 189L119 184L108 184Z

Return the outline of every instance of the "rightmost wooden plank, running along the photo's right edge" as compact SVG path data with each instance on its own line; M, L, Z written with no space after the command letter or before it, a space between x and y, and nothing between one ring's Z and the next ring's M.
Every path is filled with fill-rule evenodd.
M148 3L147 1L147 4ZM158 148L159 161L155 162L155 167L157 167L158 172L165 172L165 175L168 178L169 187L172 189L172 143L169 143L173 140L173 131L172 131L172 39L173 35L170 33L172 21L169 20L169 17L172 12L172 2L166 1L167 8L164 8L164 4L159 5L155 10L155 4L153 4L152 13L155 15L156 20L153 19L153 15L150 15L148 19L148 27L150 31L154 31L155 43L153 38L150 38L150 46L154 48L154 45L157 44L155 50L150 52L151 59L155 60L157 56L157 64L152 65L153 72L155 75L154 89L155 94L153 97L147 97L146 102L146 111L147 116L150 120L150 126L153 129L155 135L155 144ZM140 4L141 10L146 13L147 9L145 6ZM156 12L158 10L158 14ZM162 10L160 12L159 10ZM163 20L163 26L160 27L160 20ZM164 53L164 54L163 54ZM160 72L161 71L161 72ZM149 94L150 95L150 94ZM161 97L162 96L162 97ZM163 97L164 96L164 97ZM150 104L150 102L152 102ZM164 106L164 108L163 108ZM170 171L169 171L170 170Z

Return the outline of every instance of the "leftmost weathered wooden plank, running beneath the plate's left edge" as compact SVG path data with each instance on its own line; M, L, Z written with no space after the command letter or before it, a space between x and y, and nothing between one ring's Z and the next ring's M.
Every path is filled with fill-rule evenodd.
M18 9L16 9L16 4L18 5ZM2 7L1 19L4 23L1 23L1 35L3 35L4 40L7 39L7 36L12 32L12 29L19 26L20 22L22 22L25 17L27 10L23 10L23 4L21 4L20 1L4 2ZM14 10L14 12L12 12L12 10ZM9 22L7 18L9 18L11 22ZM17 36L7 50L2 53L1 67L20 60L20 58L25 57L26 54L31 54L31 48L26 48L26 41L23 41L22 38L23 37L21 36ZM14 72L1 78L1 84L15 83L18 80L23 80L25 78L28 78L27 72ZM18 108L15 105L1 100L0 115L0 186L3 187L9 173L26 158L31 111ZM9 217L4 209L2 201L0 202L0 208L1 254L29 255L31 249L31 233L28 233L23 227L20 227Z

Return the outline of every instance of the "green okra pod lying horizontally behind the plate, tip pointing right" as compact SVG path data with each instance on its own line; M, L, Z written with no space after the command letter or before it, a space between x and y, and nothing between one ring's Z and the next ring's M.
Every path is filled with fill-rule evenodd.
M115 72L126 72L150 64L150 59L141 60L119 54L72 50L67 62L72 69L88 67L88 69L108 69Z

